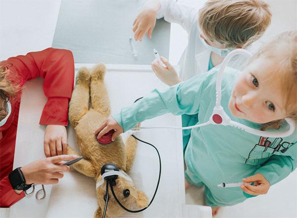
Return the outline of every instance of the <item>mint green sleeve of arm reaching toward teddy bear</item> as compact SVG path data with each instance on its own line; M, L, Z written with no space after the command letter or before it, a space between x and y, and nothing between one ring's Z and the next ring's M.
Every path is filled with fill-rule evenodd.
M174 115L198 113L204 76L179 83L168 89L154 89L143 99L112 115L116 122L128 131L136 124L166 113Z

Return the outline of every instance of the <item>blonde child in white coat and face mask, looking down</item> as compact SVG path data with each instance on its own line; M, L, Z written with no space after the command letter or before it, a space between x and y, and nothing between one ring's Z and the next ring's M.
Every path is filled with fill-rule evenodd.
M220 64L232 49L254 42L269 26L271 12L262 0L207 0L199 11L175 0L148 0L133 24L135 40L146 33L151 38L156 18L162 17L180 24L189 36L179 63L180 78L175 71L152 64L159 79L172 86Z

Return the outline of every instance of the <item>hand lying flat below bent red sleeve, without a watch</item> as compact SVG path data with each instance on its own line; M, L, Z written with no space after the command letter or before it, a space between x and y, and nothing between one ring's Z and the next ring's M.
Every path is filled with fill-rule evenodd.
M60 125L48 125L44 136L44 151L47 157L67 154L67 131Z

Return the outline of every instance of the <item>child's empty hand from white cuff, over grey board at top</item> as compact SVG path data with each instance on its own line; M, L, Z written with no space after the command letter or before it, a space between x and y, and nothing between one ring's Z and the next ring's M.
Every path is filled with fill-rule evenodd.
M133 22L134 39L136 41L142 41L146 33L148 33L148 38L151 38L152 30L156 24L157 12L160 7L159 0L150 0L144 4L142 11Z

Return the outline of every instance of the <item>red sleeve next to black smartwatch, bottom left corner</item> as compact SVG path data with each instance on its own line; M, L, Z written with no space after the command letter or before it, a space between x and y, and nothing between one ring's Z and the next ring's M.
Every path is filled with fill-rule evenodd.
M20 194L15 193L7 175L0 180L0 196L1 208L8 208L25 197L25 193L23 191Z

